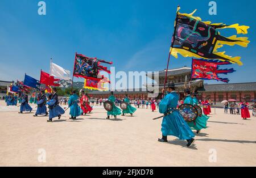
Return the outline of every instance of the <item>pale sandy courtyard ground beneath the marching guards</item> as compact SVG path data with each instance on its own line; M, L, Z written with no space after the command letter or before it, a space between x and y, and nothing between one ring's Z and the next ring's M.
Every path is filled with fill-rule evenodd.
M175 137L158 142L162 120L153 121L160 114L149 109L117 120L96 108L71 121L68 111L53 123L9 110L1 101L0 166L256 166L256 118L223 109L210 115L191 148Z

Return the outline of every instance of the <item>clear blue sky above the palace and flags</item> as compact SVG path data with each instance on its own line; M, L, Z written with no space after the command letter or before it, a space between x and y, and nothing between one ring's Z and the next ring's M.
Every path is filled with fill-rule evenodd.
M72 71L75 52L113 61L115 70L163 70L180 5L181 12L197 9L196 15L204 21L250 26L248 48L222 50L241 56L244 63L228 66L237 70L228 75L230 83L256 81L254 0L218 0L217 15L209 15L208 0L46 0L45 16L38 15L38 2L0 1L0 80L22 80L24 73L39 79L40 69L49 71L51 57ZM221 30L224 36L235 33ZM171 58L171 68L184 65L191 66L191 58Z

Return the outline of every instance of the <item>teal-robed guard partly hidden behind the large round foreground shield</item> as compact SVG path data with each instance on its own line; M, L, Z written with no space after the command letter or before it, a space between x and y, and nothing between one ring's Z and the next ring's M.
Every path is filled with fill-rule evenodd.
M184 100L184 104L191 104L191 105L196 105L198 104L198 100L196 98L192 98L190 95L190 90L185 89L184 92L186 98ZM195 121L193 122L187 122L189 127L196 130L196 133L199 134L201 132L201 129L206 129L207 128L207 120L209 117L202 115L201 117L198 116Z

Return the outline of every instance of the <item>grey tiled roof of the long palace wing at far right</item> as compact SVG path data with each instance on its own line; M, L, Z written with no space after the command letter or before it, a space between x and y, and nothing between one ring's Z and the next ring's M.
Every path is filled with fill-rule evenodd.
M204 88L200 88L199 91L201 92L256 91L256 82L204 84Z

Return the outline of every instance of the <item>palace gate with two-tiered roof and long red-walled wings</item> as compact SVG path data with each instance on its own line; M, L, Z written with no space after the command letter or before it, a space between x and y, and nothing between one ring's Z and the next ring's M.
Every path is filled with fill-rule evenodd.
M147 77L154 80L156 73L147 74ZM133 89L130 91L114 91L116 98L124 98L127 93L130 99L150 100L150 92L154 92L150 86L158 87L159 92L164 87L164 79L166 70L158 72L159 79L156 81L158 84L144 84L145 88ZM236 99L241 101L242 98L246 98L247 101L256 99L256 82L250 83L221 83L221 84L207 84L204 80L191 80L191 68L184 66L178 69L170 69L167 71L167 83L174 82L176 91L179 92L180 98L184 98L184 87L190 87L191 91L199 92L198 98L200 100L210 99L214 104L220 104L223 100ZM189 82L191 81L191 82ZM89 95L93 98L108 98L110 91L93 91ZM162 94L156 98L161 98Z

